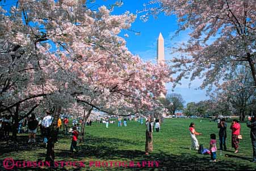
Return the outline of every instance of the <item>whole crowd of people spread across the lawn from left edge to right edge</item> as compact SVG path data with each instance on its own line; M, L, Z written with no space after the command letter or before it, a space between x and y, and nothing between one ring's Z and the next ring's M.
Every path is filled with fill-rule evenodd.
M127 121L137 121L140 124L143 124L144 117L117 117L117 126L127 126ZM106 123L106 128L108 128L108 123L114 124L115 120L110 120L110 117L102 117L100 119L101 123ZM52 124L53 117L51 116L50 112L46 112L45 117L38 118L35 116L34 113L31 114L30 117L26 117L19 121L18 124L18 133L28 133L28 143L36 142L36 133L37 129L40 129L41 136L43 137L43 143L47 145L49 140L50 134L50 126ZM93 121L98 121L98 119L88 119L86 125L91 126ZM10 116L4 116L0 119L0 137L1 138L9 138L9 134L12 128L12 119ZM82 119L73 119L72 128L69 126L69 119L68 117L60 117L57 121L57 129L56 129L56 140L58 142L58 132L63 125L63 132L64 134L71 133L72 134L72 142L70 146L70 151L73 153L75 150L78 151L77 148L77 140L78 135L81 133L81 125ZM153 130L156 129L156 132L160 131L160 120L151 118L150 116L146 118L146 143L145 143L145 155L149 155L149 152L153 151ZM250 137L251 137L251 144L253 146L253 162L256 162L256 117L249 117L247 121L247 127L251 129ZM228 125L226 120L220 119L217 123L217 128L219 128L219 150L226 151L226 138L228 135L226 134L226 129ZM234 153L238 153L240 139L242 139L242 135L240 134L241 125L238 120L234 119L230 125L231 129L231 144L232 148L234 148ZM199 142L196 138L196 135L202 135L202 133L198 133L195 130L195 123L191 122L189 126L190 137L191 137L191 147L190 149L199 150ZM211 134L209 141L209 151L211 153L211 160L212 162L216 162L216 135Z

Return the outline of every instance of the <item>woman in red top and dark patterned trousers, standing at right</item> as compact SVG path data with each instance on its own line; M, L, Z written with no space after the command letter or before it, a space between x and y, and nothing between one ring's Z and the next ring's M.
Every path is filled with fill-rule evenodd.
M232 147L234 148L234 153L238 153L238 144L239 144L239 139L238 135L240 135L240 129L241 126L238 122L238 120L234 119L232 121L232 124L230 126L230 129L232 130Z

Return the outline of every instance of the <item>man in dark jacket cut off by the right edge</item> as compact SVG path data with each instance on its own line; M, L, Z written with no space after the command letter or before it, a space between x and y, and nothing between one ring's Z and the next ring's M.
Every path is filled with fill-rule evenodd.
M249 117L246 125L251 129L251 144L253 144L252 162L256 163L256 117Z

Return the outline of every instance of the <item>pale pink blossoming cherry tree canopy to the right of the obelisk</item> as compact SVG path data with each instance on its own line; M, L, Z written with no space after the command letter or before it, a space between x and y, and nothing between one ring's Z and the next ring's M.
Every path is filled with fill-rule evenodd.
M179 28L190 31L190 40L174 49L173 58L179 76L203 78L201 88L215 84L232 74L237 66L249 65L256 87L255 10L253 0L153 0L145 5L147 19L161 12L175 15Z

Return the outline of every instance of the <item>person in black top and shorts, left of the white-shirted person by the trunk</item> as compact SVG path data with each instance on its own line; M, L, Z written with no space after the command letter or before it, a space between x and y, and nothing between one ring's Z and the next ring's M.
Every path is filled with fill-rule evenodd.
M36 142L36 131L37 131L38 121L36 120L35 114L32 114L28 120L28 143Z

